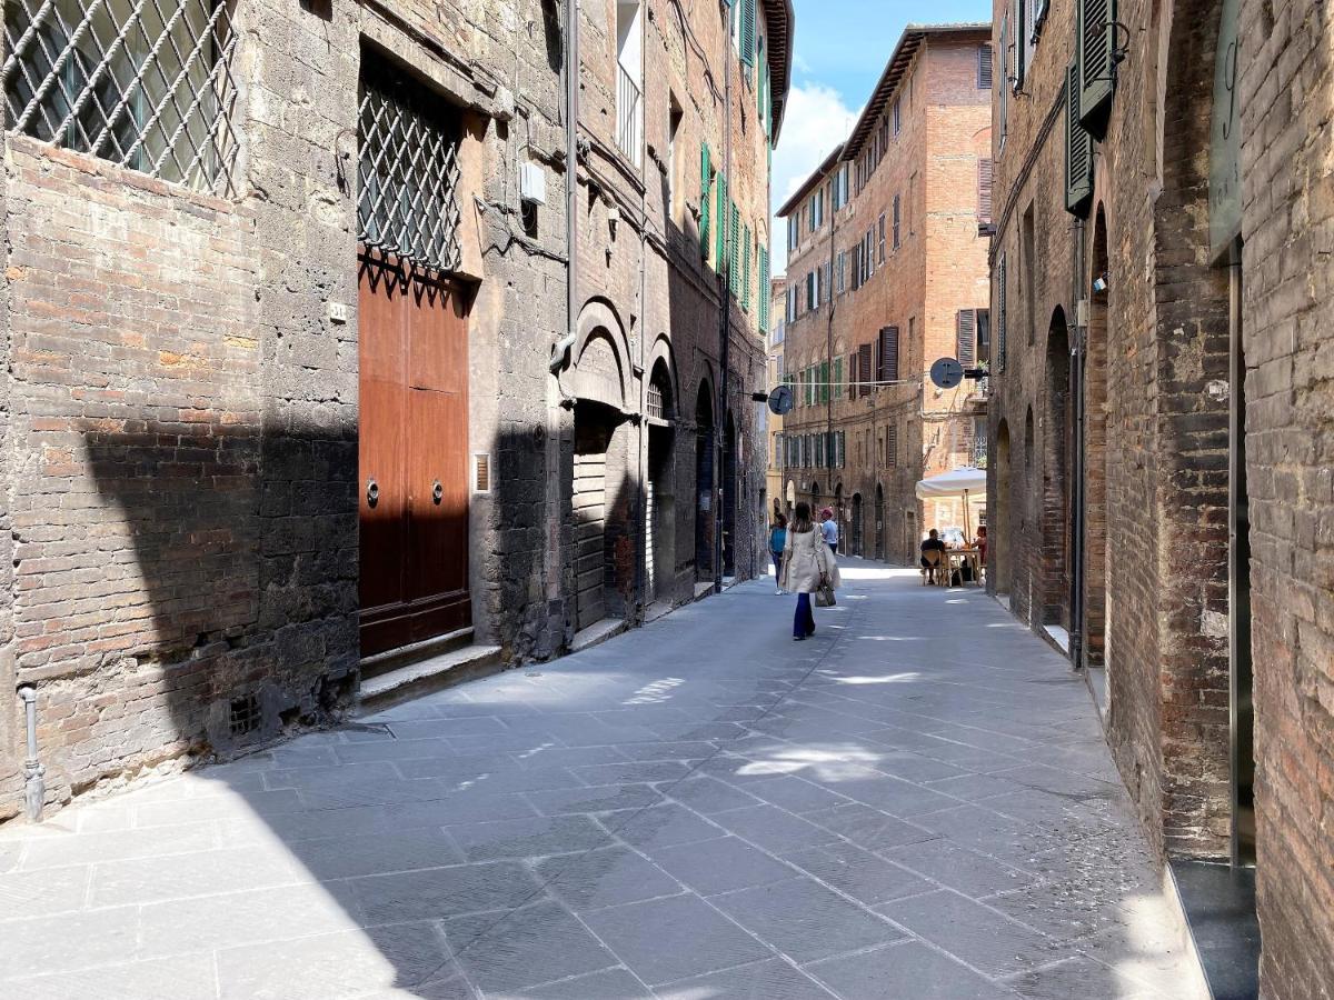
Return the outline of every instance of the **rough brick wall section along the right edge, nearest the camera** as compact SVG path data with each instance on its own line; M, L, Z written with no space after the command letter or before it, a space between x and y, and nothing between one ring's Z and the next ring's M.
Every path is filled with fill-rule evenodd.
M1246 453L1261 985L1334 995L1334 28L1243 3Z

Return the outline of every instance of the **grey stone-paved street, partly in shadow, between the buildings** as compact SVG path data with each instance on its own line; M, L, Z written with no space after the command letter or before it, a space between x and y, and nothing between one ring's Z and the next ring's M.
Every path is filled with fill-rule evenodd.
M1201 996L1083 681L844 565L0 832L0 996Z

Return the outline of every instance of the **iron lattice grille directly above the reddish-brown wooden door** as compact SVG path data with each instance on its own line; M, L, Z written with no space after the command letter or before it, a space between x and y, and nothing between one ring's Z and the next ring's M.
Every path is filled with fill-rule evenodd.
M358 240L399 260L459 268L459 128L440 100L387 67L362 83Z

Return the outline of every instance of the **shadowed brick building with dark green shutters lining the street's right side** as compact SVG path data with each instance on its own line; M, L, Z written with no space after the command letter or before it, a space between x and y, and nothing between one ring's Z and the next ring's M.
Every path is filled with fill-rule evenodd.
M1330 29L1002 0L994 31L988 587L1090 671L1174 867L1254 879L1262 993L1329 997Z

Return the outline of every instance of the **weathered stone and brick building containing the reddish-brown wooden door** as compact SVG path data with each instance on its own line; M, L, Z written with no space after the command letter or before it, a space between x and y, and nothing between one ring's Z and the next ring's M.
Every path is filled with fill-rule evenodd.
M0 820L19 688L63 803L756 569L794 23L690 7L4 7Z

